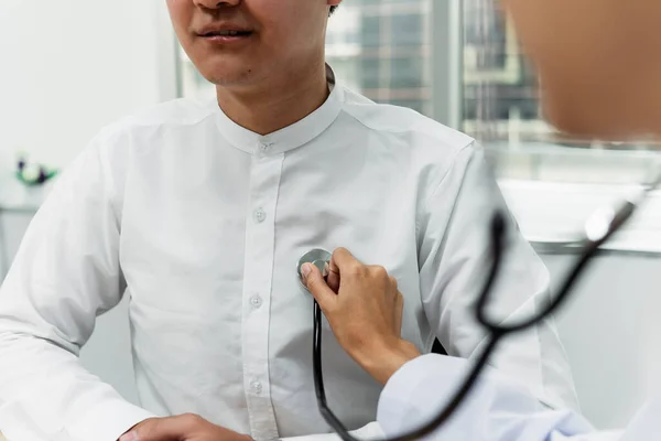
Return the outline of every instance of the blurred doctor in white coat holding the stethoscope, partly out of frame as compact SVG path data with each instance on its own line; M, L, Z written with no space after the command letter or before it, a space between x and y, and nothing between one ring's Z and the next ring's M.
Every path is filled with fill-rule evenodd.
M506 0L523 45L543 79L546 115L573 136L661 138L661 2L659 0ZM342 346L386 385L378 421L388 435L436 416L470 365L421 356L400 335L397 280L345 249L334 254L328 283L314 267L306 284ZM336 294L337 292L337 294ZM499 293L492 299L501 301ZM405 309L403 309L405 311ZM596 432L571 411L541 407L529 390L488 372L447 424L431 439L454 441L605 441L659 439L661 397L624 431Z

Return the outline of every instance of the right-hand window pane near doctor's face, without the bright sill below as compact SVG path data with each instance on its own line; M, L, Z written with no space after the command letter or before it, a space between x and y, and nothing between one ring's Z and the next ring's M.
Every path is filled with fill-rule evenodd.
M491 148L499 174L578 183L648 180L658 146L563 139L544 122L537 76L498 4L492 0L464 2L463 130Z

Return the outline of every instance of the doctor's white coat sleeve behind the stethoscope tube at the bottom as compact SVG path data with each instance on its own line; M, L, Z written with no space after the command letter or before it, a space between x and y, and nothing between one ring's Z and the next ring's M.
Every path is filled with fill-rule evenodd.
M436 354L405 364L390 378L379 399L377 419L383 432L394 437L430 421L448 402L469 368L465 359ZM520 384L487 369L456 413L426 439L616 441L620 435L595 432L571 410L549 410Z

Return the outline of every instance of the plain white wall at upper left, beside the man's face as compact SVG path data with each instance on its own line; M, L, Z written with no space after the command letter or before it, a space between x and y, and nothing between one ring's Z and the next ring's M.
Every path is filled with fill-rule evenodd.
M154 0L1 0L0 172L20 149L66 165L99 128L158 103L170 79L159 72L172 47L164 10Z

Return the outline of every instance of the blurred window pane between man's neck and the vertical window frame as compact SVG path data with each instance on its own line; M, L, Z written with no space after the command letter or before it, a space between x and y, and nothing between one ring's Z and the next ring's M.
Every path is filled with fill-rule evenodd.
M430 115L432 0L351 0L328 22L326 58L346 86Z

